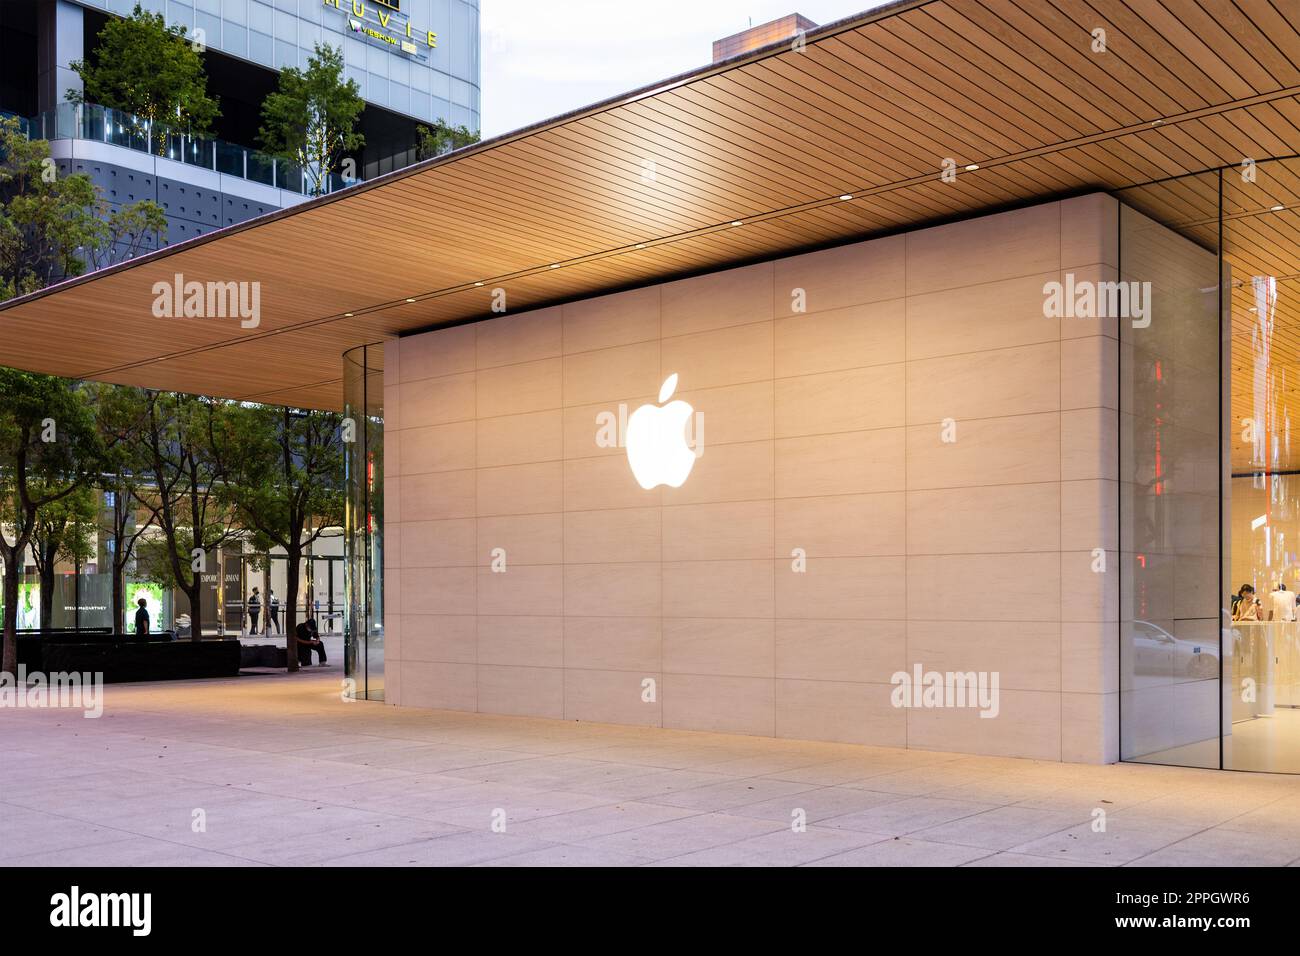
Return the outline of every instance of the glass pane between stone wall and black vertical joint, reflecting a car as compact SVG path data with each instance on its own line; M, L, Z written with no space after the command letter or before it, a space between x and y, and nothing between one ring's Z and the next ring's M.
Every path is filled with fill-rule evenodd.
M1217 767L1218 176L1121 200L1118 278L1149 303L1118 320L1121 757Z

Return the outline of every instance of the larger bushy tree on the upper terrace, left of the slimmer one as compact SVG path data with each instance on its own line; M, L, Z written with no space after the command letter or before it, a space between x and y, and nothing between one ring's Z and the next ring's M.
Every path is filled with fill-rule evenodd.
M69 90L68 99L121 109L162 133L205 135L221 112L208 96L200 46L183 26L169 27L161 13L135 4L130 17L104 23L92 62L69 64L83 88ZM164 135L156 137L155 150L165 152Z

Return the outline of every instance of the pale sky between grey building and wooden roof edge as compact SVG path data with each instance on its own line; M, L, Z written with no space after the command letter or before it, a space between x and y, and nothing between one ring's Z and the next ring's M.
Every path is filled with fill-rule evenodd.
M481 0L482 137L698 69L712 43L788 13L831 23L880 0Z

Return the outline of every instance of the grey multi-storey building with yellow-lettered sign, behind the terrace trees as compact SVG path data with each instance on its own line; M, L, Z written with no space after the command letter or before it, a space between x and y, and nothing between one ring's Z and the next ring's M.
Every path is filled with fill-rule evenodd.
M209 139L140 134L101 104L73 105L70 68L94 56L109 17L135 0L6 0L0 5L0 113L51 140L65 172L86 173L110 204L152 199L164 245L303 202L299 170L259 151L261 100L278 72L306 68L315 44L341 47L344 78L365 100L354 157L368 179L416 160L416 127L441 120L478 129L477 0L140 0L204 48L221 117ZM346 186L334 177L330 189Z

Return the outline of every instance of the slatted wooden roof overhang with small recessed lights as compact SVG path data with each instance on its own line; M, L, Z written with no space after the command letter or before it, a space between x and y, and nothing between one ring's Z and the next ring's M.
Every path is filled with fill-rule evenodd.
M347 349L489 317L493 289L517 312L1294 156L1297 95L1290 0L906 0L13 299L0 363L338 408ZM1297 183L1258 200L1286 245L1257 251L1300 274ZM157 317L176 276L260 284L260 323Z

